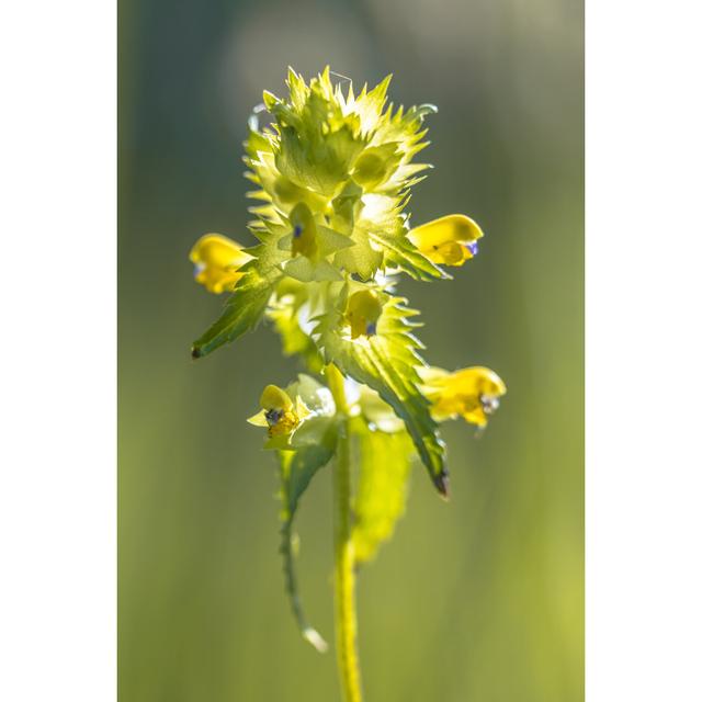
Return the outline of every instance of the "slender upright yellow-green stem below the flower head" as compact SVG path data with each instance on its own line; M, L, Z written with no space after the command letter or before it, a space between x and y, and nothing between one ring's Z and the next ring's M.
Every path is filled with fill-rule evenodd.
M329 363L326 373L340 420L337 462L332 476L337 660L343 699L346 702L362 702L361 671L356 650L355 564L351 540L349 406L343 390L343 375L339 369L333 363Z

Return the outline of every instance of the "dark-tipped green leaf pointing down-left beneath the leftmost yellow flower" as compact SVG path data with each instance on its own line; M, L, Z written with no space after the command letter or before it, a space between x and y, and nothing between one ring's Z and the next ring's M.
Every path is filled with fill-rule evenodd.
M250 261L246 272L226 302L224 313L192 347L193 359L201 359L256 328L265 312L280 274L263 276Z

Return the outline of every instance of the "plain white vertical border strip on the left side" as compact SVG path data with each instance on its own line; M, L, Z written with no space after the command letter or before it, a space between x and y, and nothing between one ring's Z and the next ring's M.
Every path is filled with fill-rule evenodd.
M8 702L116 699L115 10L0 10Z

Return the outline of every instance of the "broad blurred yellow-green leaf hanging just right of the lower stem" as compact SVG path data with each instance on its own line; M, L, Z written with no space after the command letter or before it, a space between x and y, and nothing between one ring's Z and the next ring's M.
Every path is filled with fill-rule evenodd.
M372 561L405 512L415 448L406 431L371 431L356 418L351 434L359 446L360 473L353 503L353 544L358 563Z

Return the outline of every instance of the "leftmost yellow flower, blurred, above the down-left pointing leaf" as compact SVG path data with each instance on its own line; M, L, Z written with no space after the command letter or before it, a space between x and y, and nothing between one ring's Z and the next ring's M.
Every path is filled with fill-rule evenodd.
M249 260L241 245L220 234L200 237L190 252L195 264L195 280L211 293L231 292L244 273L237 271Z

